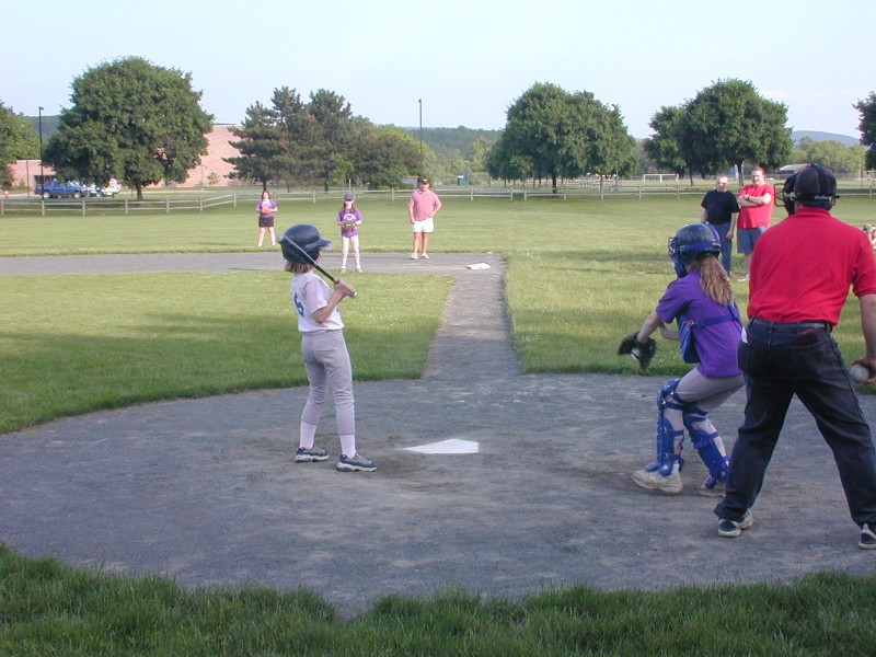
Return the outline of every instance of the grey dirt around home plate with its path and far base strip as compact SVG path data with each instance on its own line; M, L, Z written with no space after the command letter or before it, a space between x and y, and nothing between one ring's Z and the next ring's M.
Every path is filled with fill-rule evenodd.
M479 262L491 268L465 268ZM306 389L143 404L0 437L0 540L26 555L192 587L303 587L344 614L382 595L448 587L518 597L578 583L661 588L876 572L799 404L754 527L719 539L716 499L698 495L705 471L690 448L681 495L630 480L653 456L661 379L520 374L496 255L366 254L364 265L456 279L426 376L356 384L359 446L377 472L292 462ZM0 258L0 275L278 266L276 252L23 257ZM876 416L876 399L863 402ZM728 443L742 404L738 393L713 414ZM334 457L327 411L319 441ZM404 449L451 438L480 452Z

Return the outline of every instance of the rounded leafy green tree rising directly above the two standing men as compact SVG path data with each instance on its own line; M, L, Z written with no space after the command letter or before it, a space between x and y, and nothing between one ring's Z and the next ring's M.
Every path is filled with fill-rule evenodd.
M751 82L719 80L683 108L680 149L691 168L718 173L730 164L775 168L791 155L787 107L761 97Z

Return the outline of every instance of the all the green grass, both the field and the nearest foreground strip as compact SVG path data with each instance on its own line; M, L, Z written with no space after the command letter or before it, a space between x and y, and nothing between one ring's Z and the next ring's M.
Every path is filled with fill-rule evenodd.
M278 228L311 222L333 237L336 209L285 204ZM403 200L361 209L366 264L369 252L410 249ZM835 214L861 226L876 201L843 198ZM453 198L430 250L506 257L512 339L527 371L630 374L635 364L615 356L620 337L673 277L667 238L698 217L692 197ZM250 208L8 216L0 257L254 250L254 219ZM420 376L452 281L366 274L355 284L361 299L345 304L344 318L357 379ZM0 276L0 434L142 401L304 384L288 286L279 263L277 272ZM734 286L745 308L744 284ZM834 335L849 359L863 353L854 300ZM661 342L652 374L660 381L689 367ZM306 591L184 591L0 549L0 654L869 655L874 585L825 574L792 586L574 587L521 601L448 592L387 598L344 621Z

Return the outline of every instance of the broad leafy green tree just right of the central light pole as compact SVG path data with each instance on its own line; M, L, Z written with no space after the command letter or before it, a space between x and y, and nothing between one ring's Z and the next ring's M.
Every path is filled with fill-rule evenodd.
M506 177L528 166L533 177L550 177L556 193L561 176L631 169L634 146L616 107L607 107L590 92L569 94L555 84L535 83L508 108L488 170Z

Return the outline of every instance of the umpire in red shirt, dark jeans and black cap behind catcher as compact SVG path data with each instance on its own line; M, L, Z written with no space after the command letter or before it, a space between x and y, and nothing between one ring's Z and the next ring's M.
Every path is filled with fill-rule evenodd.
M745 422L730 456L726 494L715 507L718 535L738 537L751 527L750 508L796 394L833 452L860 527L858 546L876 550L876 452L831 336L851 286L866 344L866 356L856 362L876 372L876 258L861 229L830 215L837 197L832 173L810 164L786 181L784 192L789 216L763 233L751 258L751 321L738 349Z

